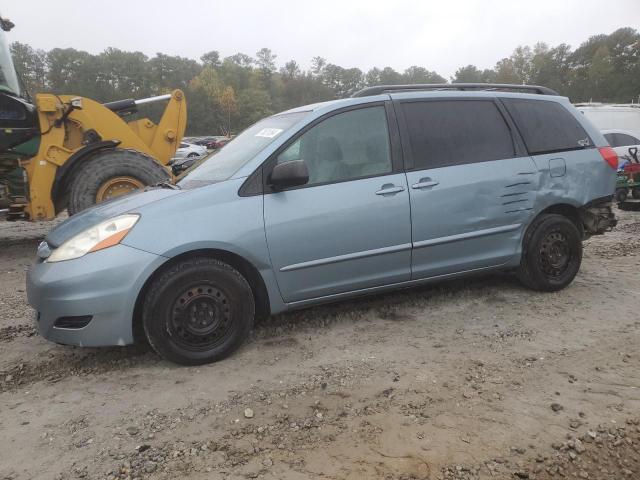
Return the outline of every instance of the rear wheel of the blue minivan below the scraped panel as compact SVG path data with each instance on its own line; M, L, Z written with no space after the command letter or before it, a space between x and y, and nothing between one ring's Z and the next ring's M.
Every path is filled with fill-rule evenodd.
M567 217L540 215L524 236L518 278L529 288L555 292L569 285L582 263L582 237Z

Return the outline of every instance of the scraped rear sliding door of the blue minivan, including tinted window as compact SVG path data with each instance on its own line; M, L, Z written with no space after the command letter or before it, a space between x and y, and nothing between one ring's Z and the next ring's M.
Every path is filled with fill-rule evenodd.
M399 102L412 278L498 266L533 215L539 173L493 99Z

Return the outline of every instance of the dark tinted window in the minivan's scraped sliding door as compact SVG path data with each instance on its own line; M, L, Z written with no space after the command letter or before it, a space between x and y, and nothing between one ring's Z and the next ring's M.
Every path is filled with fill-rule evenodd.
M511 132L502 114L486 100L402 103L414 168L512 158Z

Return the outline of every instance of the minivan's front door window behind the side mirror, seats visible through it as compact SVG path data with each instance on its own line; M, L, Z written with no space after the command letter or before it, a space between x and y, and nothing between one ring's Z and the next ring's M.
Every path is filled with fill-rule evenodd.
M339 113L303 133L276 160L304 160L307 185L391 172L391 148L383 106Z

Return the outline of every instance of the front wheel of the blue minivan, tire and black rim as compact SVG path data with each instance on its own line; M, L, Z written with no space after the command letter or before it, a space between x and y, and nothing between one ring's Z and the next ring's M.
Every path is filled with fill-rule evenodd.
M251 287L234 268L212 258L192 258L153 280L142 323L153 349L166 360L202 365L234 352L253 326Z

